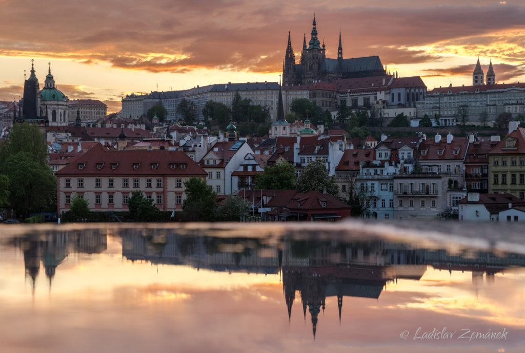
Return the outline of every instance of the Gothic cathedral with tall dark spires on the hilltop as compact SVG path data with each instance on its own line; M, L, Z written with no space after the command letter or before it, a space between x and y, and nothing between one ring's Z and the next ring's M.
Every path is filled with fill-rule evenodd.
M379 56L343 59L341 31L337 59L325 56L324 40L318 39L316 17L313 16L312 33L308 45L306 34L302 43L301 61L296 63L292 50L290 32L285 60L282 64L282 83L285 86L308 85L316 82L332 82L338 79L351 79L386 75Z

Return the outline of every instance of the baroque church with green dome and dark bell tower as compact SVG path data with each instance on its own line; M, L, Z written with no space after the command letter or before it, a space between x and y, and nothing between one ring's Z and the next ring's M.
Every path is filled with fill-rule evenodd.
M55 79L51 74L49 64L44 88L40 90L40 83L35 74L34 62L31 60L31 71L24 81L24 95L19 102L18 118L15 113L15 122L27 122L46 126L68 125L68 98L55 86Z

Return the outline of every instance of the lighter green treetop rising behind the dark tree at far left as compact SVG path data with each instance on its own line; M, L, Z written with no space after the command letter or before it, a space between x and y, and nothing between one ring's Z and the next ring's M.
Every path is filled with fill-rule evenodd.
M47 166L47 147L44 135L36 125L16 124L9 135L0 143L0 174L3 172L3 163L7 158L19 152L25 152L41 166Z

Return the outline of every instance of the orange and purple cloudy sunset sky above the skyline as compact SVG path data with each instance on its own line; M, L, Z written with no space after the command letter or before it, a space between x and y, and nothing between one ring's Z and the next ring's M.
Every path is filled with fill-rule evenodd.
M288 31L299 59L316 14L327 56L379 52L402 76L428 86L470 84L477 57L497 81L525 81L522 0L0 0L0 100L22 95L24 70L40 85L47 63L70 99L108 111L132 92L212 83L278 81Z

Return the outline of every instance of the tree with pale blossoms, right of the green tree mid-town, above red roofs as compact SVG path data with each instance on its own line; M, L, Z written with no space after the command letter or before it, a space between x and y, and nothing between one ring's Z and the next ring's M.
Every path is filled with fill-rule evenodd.
M316 159L308 164L297 179L297 190L302 193L309 191L325 192L332 196L339 196L339 188L335 178L328 175L325 162Z

